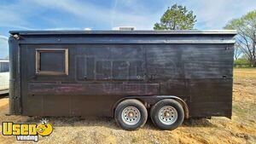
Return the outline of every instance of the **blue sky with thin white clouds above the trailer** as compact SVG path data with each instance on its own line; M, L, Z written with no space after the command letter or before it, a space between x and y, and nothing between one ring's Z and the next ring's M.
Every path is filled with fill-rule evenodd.
M0 59L8 54L9 31L110 30L135 26L152 30L173 4L193 10L199 30L218 30L256 9L256 0L1 0Z

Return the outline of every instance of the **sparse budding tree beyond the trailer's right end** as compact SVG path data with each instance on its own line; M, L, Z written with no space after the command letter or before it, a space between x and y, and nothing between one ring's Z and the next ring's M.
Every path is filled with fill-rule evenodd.
M241 49L251 66L256 67L256 10L230 20L224 29L236 29L235 49Z

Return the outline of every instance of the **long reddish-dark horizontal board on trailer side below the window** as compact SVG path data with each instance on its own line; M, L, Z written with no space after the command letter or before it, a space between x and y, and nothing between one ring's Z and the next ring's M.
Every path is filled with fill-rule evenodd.
M29 84L29 95L159 95L159 84Z

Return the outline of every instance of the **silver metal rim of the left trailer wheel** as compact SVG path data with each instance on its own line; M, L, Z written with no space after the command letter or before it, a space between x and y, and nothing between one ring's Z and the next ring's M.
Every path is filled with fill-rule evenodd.
M141 112L137 107L125 107L122 112L122 120L127 125L135 125L141 119Z

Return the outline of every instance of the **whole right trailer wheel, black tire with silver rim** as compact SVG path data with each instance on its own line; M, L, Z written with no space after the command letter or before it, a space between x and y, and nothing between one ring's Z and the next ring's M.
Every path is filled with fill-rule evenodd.
M179 102L166 99L151 107L150 117L154 125L161 130L174 130L183 123L184 111Z

